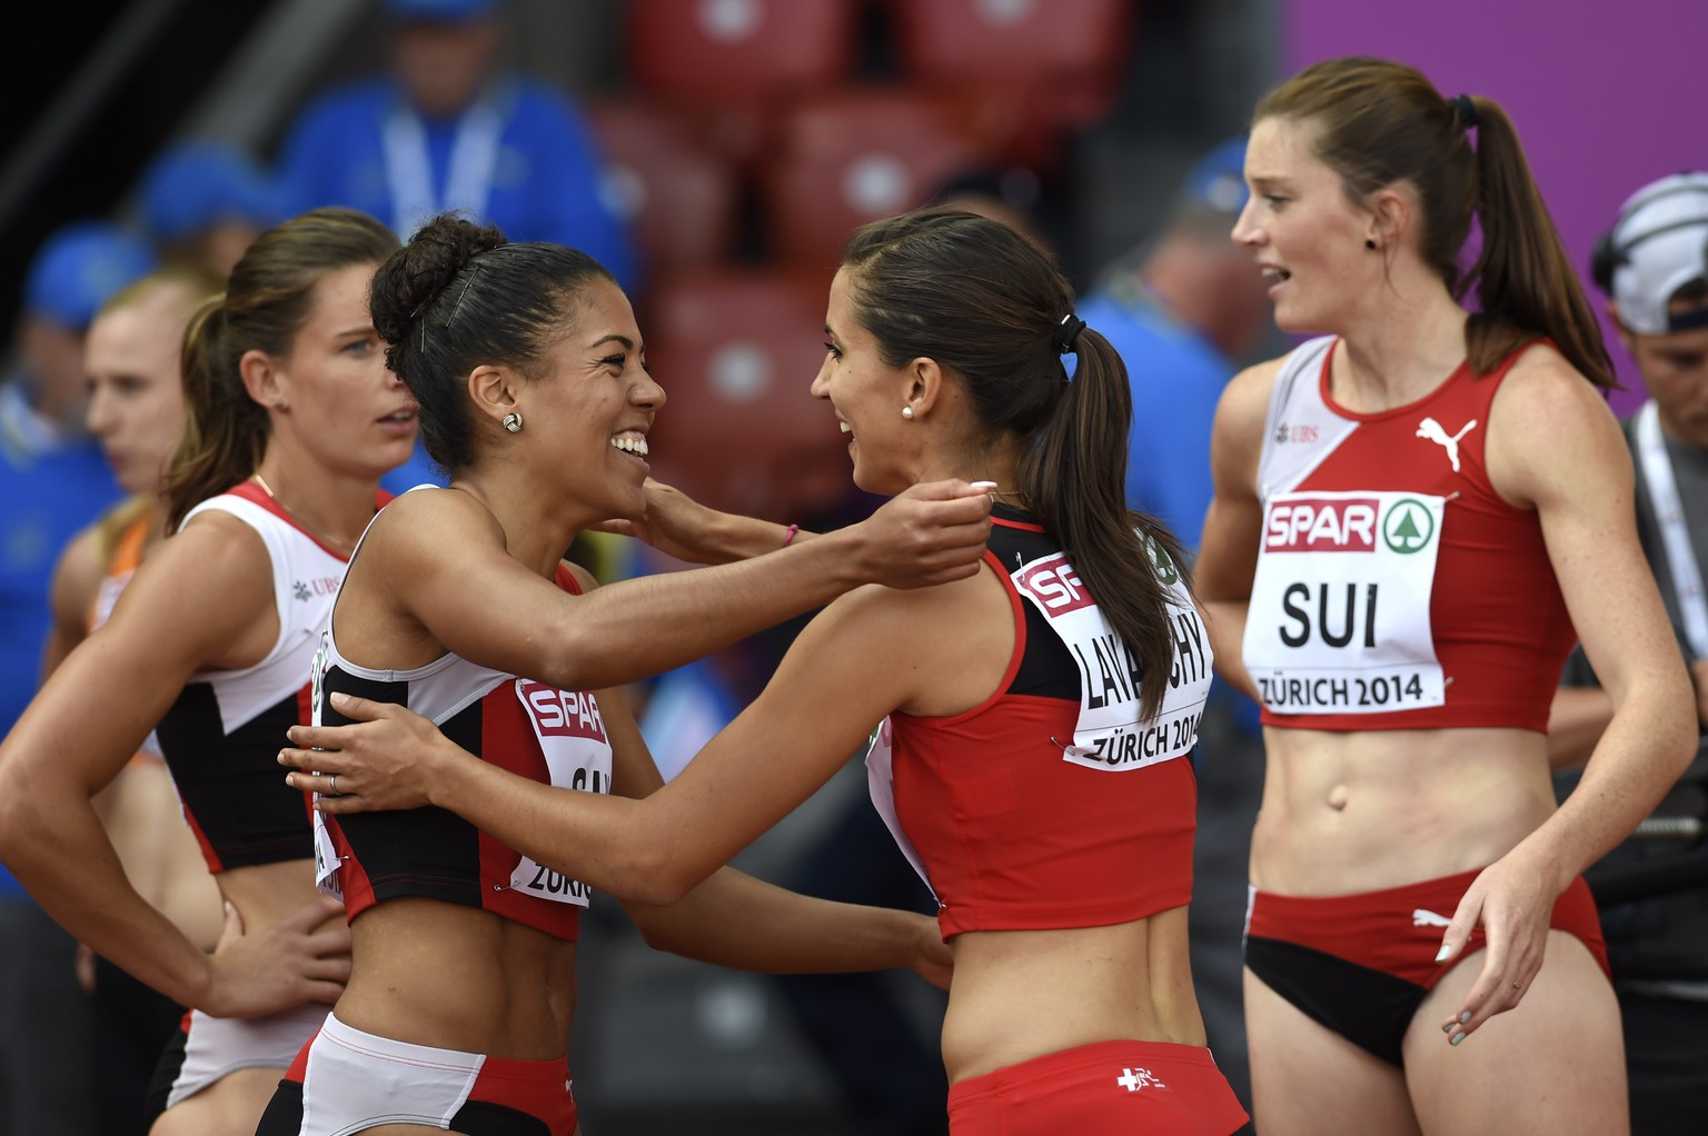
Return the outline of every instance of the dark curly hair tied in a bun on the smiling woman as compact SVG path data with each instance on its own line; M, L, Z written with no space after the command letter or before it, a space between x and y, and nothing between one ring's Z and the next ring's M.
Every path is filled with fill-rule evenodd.
M468 374L502 364L529 378L564 335L594 280L615 277L562 244L511 244L456 214L427 222L379 272L369 292L386 364L420 403L422 441L447 471L475 458Z

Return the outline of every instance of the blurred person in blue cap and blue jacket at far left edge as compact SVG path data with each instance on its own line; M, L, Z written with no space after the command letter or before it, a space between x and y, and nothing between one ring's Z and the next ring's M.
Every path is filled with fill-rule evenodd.
M82 427L84 333L154 268L149 244L106 222L60 229L24 280L17 362L0 383L0 735L36 692L60 548L121 495ZM87 1131L89 1006L72 940L0 868L0 1133Z

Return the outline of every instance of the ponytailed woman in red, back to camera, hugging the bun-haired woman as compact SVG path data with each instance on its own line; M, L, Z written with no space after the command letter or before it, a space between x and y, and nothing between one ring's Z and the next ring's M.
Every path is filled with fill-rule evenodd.
M936 890L955 955L951 1131L1226 1136L1245 1114L1204 1049L1187 965L1209 642L1177 543L1124 504L1126 369L1044 253L951 210L859 231L825 331L811 393L861 489L986 482L977 574L834 601L753 706L646 799L553 793L471 760L388 704L393 690L333 697L362 721L294 731L304 748L280 760L306 770L295 784L336 791L319 798L328 823L354 832L388 815L371 810L430 803L548 870L671 904L876 731L874 803ZM704 559L835 540L663 489L637 528ZM347 588L360 571L359 557Z

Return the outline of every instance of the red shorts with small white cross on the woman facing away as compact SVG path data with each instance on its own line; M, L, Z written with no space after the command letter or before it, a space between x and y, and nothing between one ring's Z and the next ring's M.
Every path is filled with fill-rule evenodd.
M1208 1049L1097 1042L950 1086L950 1136L1228 1136L1247 1121Z

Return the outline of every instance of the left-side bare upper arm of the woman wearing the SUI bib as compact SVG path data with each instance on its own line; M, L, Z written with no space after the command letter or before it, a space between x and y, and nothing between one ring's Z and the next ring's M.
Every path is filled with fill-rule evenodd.
M1216 405L1209 439L1214 495L1204 514L1204 536L1192 574L1206 601L1245 600L1257 572L1262 502L1257 499L1257 461L1262 453L1269 393L1281 372L1279 359L1233 376Z

